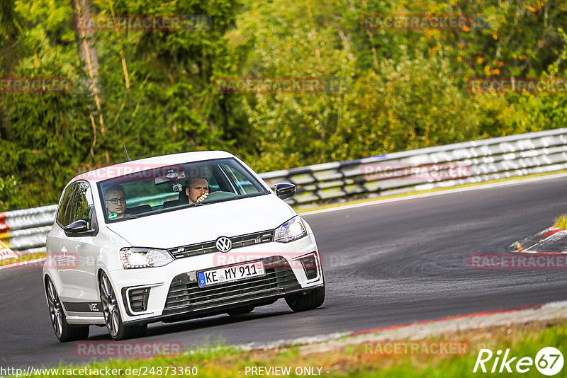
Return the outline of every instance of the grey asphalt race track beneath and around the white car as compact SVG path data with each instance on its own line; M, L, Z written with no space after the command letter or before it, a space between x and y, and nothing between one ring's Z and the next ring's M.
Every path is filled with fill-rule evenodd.
M565 300L565 270L467 264L471 253L503 253L563 212L566 177L306 215L325 268L320 309L296 314L281 299L235 318L155 323L143 340L270 343ZM0 366L88 361L55 338L39 269L1 270L0 287ZM89 340L111 338L91 326Z

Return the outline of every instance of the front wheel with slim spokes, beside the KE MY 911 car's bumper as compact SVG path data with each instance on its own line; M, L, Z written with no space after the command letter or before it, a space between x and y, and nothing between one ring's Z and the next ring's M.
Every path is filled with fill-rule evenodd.
M111 280L106 273L102 273L99 280L99 292L101 294L102 311L106 329L114 340L125 340L127 338L144 336L147 324L139 326L125 326L118 307L118 298L114 292Z

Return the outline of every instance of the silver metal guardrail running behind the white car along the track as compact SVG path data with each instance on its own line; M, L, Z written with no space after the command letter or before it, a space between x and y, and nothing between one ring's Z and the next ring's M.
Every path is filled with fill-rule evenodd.
M414 190L567 169L567 129L448 144L262 173L269 185L297 185L291 205ZM0 213L0 240L20 254L45 251L57 205Z

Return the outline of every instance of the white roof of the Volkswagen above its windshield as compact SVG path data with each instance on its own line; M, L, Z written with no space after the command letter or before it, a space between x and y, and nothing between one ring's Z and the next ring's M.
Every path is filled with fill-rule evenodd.
M146 159L139 159L133 161L125 161L120 164L106 166L93 171L88 171L75 176L69 183L77 180L86 180L91 183L98 183L99 181L108 180L123 176L125 173L145 171L152 168L160 168L163 166L172 166L175 164L192 163L194 161L203 161L211 159L233 158L234 155L226 151L194 151L182 152L180 154L154 156Z

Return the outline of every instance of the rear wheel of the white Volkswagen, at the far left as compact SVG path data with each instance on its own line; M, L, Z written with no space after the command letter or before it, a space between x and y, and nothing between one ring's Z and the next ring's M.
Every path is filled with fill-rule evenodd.
M45 294L47 294L47 307L49 307L51 326L55 332L55 337L62 343L88 338L88 325L72 326L67 323L67 316L65 316L59 295L50 277L45 280Z

